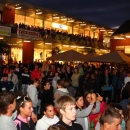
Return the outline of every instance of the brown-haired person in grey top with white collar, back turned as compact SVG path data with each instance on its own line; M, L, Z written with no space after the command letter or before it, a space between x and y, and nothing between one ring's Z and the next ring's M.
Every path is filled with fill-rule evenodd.
M57 90L54 93L54 103L56 102L56 100L58 98L60 98L63 95L69 95L69 92L67 90L67 88L65 88L64 86L64 80L60 79L57 81Z

